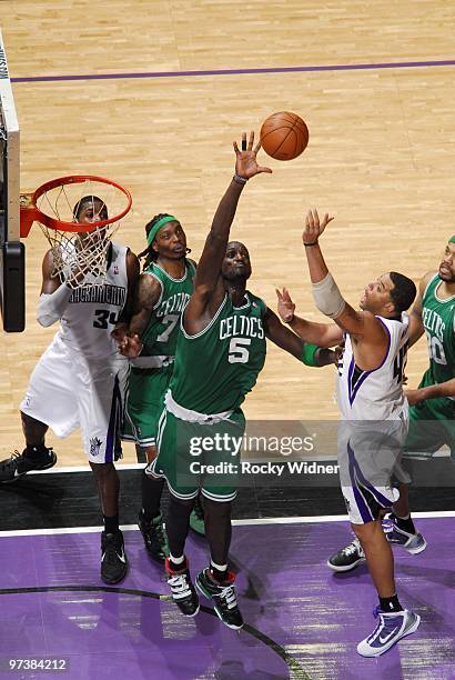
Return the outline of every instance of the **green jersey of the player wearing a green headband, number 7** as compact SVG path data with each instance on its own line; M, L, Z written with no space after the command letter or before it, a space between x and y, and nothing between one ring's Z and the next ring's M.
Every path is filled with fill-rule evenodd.
M144 273L160 282L161 296L153 307L149 326L141 336L144 348L138 366L144 363L145 357L174 357L180 316L193 292L195 267L185 260L185 273L181 279L173 279L156 262L153 262Z

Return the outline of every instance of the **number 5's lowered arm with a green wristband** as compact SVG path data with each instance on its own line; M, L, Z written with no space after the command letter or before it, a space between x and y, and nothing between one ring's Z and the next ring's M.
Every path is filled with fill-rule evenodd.
M283 326L275 312L267 308L264 316L265 337L305 366L328 366L335 363L335 352L317 344L307 343Z

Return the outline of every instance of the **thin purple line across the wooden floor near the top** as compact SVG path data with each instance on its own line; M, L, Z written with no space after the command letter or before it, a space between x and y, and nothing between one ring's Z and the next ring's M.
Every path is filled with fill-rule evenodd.
M251 73L301 73L314 71L365 71L376 69L418 69L455 66L455 59L396 61L380 63L338 63L326 66L270 67L263 69L204 69L200 71L145 71L138 73L81 73L75 76L24 76L11 82L55 82L59 80L119 80L125 78L186 78L194 76L246 76Z

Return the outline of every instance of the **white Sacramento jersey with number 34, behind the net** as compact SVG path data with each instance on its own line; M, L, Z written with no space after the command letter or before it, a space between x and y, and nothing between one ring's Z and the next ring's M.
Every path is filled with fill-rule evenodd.
M111 332L127 301L127 253L128 248L112 243L111 262L102 283L90 286L94 277L88 274L89 284L71 292L60 320L59 338L69 349L82 352L87 359L102 359L118 353Z

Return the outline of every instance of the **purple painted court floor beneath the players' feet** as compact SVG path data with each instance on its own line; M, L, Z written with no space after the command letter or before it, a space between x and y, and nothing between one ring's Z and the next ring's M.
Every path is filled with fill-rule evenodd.
M159 566L125 531L130 572L118 588L99 578L98 533L2 536L0 678L455 679L455 517L419 519L428 548L397 549L402 602L422 616L418 631L380 659L356 643L374 626L376 598L364 566L333 574L327 556L347 524L240 524L232 558L247 623L240 633L204 609L183 618L166 598ZM192 573L205 541L191 537ZM8 671L9 659L64 659L65 672Z

